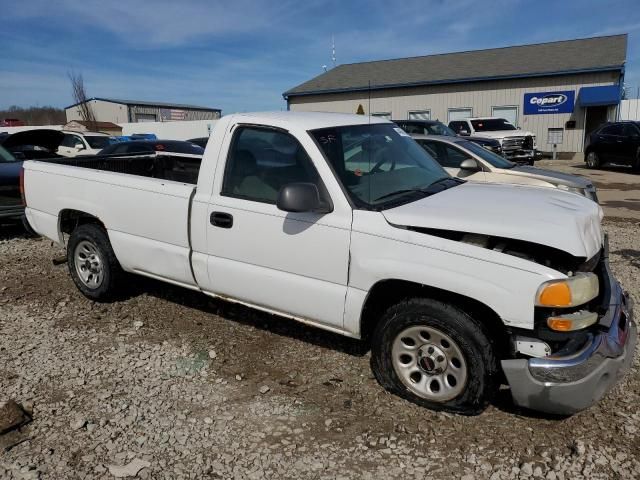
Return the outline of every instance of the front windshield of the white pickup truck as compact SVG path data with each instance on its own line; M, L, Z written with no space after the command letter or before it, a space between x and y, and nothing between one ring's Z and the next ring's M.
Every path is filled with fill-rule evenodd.
M310 134L359 207L389 208L458 184L393 124L332 127Z

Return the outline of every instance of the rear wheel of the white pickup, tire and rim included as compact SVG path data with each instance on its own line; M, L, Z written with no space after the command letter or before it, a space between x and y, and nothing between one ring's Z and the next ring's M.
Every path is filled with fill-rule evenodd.
M104 228L95 224L76 228L67 244L67 264L85 297L98 302L115 298L124 272Z

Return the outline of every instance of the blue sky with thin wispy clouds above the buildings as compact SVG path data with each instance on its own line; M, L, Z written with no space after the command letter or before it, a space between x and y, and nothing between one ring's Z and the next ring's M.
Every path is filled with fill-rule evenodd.
M0 0L0 109L72 104L69 72L90 97L286 109L332 36L342 64L628 33L635 91L638 2Z

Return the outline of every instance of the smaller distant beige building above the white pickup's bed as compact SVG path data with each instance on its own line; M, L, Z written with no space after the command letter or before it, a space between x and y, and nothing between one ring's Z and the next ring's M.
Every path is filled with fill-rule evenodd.
M147 102L143 100L118 100L113 98L90 98L97 121L113 123L169 122L180 120L217 120L221 116L218 108L199 107L177 103ZM80 104L65 108L67 122L82 120Z

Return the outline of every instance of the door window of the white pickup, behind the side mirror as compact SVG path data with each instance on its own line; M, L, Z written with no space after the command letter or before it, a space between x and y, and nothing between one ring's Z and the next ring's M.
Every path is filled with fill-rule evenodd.
M302 145L280 130L239 127L231 143L222 195L275 204L289 183L315 183L318 173Z

